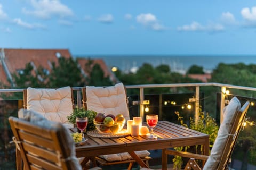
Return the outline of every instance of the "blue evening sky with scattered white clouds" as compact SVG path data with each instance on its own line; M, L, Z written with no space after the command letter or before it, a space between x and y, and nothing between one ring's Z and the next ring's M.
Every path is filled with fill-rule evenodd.
M0 0L1 48L72 55L254 55L256 2Z

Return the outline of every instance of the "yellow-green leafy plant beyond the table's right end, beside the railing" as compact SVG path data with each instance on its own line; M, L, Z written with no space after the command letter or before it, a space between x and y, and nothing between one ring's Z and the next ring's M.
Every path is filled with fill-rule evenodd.
M219 130L219 126L216 123L216 120L214 118L212 118L209 113L206 113L206 115L204 114L204 112L200 112L198 121L195 121L195 117L192 118L190 117L190 124L187 125L185 123L183 123L183 117L180 115L179 112L175 112L175 114L178 116L178 121L180 122L180 124L182 126L185 127L189 127L190 129L196 130L198 132L202 132L205 134L209 134L210 135L210 148L212 148L213 143L217 137L218 134L218 130ZM197 147L195 146L195 151L197 153ZM189 146L187 147L175 147L175 150L178 151L187 151L187 149L189 148ZM203 154L203 148L201 146L200 148L200 152L201 154ZM173 169L181 169L181 166L183 164L182 162L182 157L181 156L174 156L173 160Z

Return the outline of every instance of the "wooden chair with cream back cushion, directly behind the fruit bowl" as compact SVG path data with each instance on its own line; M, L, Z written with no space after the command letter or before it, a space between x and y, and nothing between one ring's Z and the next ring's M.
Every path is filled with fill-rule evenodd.
M82 101L85 109L93 110L97 113L107 114L123 114L126 120L130 120L126 89L123 83L118 83L115 86L110 87L94 87L86 86L82 88ZM148 151L144 151L149 154ZM122 154L122 153L121 153ZM103 157L112 157L111 155L105 155ZM114 157L114 156L113 156ZM117 156L116 156L117 157ZM132 169L134 159L130 160L115 160L108 161L100 156L95 157L98 164L114 165L129 163L127 169ZM152 159L148 155L143 157L142 160L148 165L148 160Z

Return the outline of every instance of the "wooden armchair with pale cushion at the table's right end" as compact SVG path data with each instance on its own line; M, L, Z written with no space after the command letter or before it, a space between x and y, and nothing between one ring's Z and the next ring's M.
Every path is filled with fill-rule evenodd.
M236 97L231 99L223 110L224 119L220 125L210 156L169 149L166 150L166 154L190 158L185 169L201 169L195 159L206 161L203 169L226 169L230 163L231 154L250 106L250 102L246 101L240 109L240 103L239 107L236 107L237 100Z

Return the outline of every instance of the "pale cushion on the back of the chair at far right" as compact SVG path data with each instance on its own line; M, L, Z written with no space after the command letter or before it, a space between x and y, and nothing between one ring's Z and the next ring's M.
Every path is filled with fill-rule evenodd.
M220 161L221 152L225 147L231 126L234 123L235 114L241 108L240 101L233 97L229 104L223 109L223 122L220 125L217 138L211 150L211 155L207 159L203 169L217 169Z

